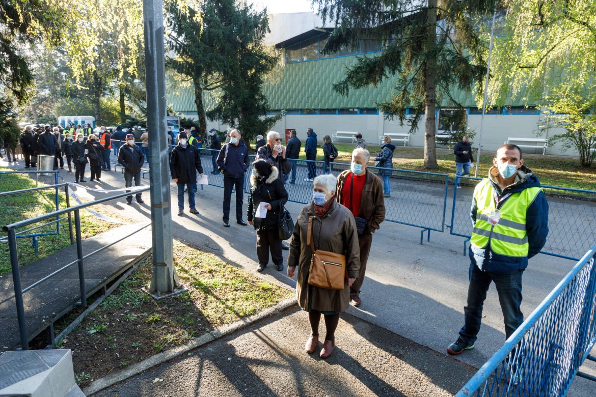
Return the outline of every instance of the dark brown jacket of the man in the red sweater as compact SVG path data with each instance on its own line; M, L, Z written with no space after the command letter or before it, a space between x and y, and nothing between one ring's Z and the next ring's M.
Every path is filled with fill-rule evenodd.
M358 216L367 220L365 233L374 233L385 219L385 202L383 200L383 185L378 176L367 171L367 179L364 182L364 189L360 198L360 211ZM337 177L336 200L341 203L343 184L352 174L352 171L345 170Z

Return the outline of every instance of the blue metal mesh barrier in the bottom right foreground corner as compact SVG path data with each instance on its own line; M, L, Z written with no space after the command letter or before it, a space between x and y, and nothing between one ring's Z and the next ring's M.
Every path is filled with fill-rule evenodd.
M596 342L596 245L457 397L564 396Z

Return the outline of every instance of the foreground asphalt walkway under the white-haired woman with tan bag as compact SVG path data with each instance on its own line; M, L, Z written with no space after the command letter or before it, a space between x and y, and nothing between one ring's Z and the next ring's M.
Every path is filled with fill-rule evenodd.
M327 360L321 343L316 354L303 350L309 333L306 312L287 310L94 396L440 397L476 371L349 314Z

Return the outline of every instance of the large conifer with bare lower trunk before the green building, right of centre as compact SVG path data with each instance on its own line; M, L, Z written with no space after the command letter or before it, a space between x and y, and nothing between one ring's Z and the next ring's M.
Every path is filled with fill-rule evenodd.
M359 57L334 89L377 85L392 79L394 95L377 106L415 132L426 114L424 167L436 169L435 110L443 98L458 105L449 89L482 86L486 73L487 15L496 0L315 0L324 20L337 24L324 51L357 48L360 40L383 43L383 51ZM406 108L416 115L406 117Z

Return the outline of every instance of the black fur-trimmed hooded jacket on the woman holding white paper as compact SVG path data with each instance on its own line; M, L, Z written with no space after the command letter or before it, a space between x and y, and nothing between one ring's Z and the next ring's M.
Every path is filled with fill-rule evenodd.
M288 201L288 192L285 191L284 183L279 179L280 172L273 167L271 175L263 180L254 175L250 176L250 196L247 219L252 221L254 229L265 227L266 229L277 229L280 221L280 211ZM255 218L254 213L261 202L271 204L271 210L267 211L265 218Z

